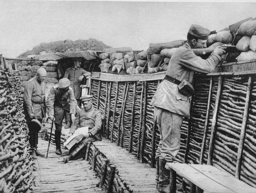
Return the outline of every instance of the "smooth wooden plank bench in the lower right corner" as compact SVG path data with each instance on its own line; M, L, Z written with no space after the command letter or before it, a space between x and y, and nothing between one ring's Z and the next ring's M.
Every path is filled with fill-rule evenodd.
M170 193L176 193L176 174L191 182L191 193L256 193L256 188L212 165L166 163Z

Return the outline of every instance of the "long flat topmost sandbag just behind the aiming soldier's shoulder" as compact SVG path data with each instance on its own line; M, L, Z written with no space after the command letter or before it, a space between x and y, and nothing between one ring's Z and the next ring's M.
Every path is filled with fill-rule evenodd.
M159 54L161 50L165 48L178 48L185 43L186 40L175 40L167 43L149 44L149 49L147 51L151 54Z

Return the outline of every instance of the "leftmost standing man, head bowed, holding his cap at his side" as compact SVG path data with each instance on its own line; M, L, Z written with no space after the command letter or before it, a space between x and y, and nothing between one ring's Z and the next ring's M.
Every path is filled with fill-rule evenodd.
M28 136L32 156L44 156L37 150L38 131L41 129L40 122L45 117L45 83L47 73L43 68L37 70L36 76L28 80L24 88L23 108L28 124Z

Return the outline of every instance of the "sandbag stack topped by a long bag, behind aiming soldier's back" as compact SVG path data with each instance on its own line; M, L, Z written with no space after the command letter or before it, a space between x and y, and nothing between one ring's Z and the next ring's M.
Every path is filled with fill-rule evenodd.
M178 48L186 43L186 40L176 40L168 43L149 44L147 49L148 73L157 71L157 66L162 58L161 51L165 48ZM158 68L159 69L159 68Z

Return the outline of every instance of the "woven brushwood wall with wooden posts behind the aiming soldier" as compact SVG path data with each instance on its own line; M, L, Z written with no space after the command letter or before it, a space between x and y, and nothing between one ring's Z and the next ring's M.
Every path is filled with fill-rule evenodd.
M152 167L160 135L149 102L160 82L93 79L90 89L102 134ZM256 187L255 76L197 75L194 87L176 161L211 164Z

